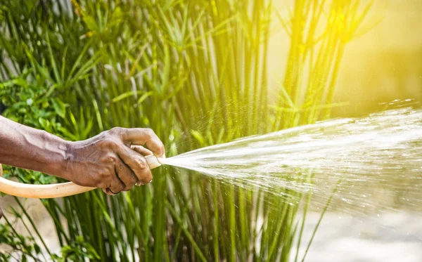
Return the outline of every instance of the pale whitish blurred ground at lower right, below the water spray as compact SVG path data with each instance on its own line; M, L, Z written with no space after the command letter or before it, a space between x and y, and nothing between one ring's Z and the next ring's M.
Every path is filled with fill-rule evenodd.
M305 252L318 218L317 213L309 216L301 254ZM409 211L355 217L326 214L305 261L420 262L421 218L422 214Z

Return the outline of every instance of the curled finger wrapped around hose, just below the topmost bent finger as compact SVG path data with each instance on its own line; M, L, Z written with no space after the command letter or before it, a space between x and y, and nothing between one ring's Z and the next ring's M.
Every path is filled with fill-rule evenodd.
M133 146L133 148L136 148L136 146ZM136 182L145 185L153 180L153 174L151 173L146 159L140 155L139 152L141 152L141 154L148 155L151 155L152 152L146 148L141 148L143 147L138 146L138 148L136 148L137 150L135 151L128 148L127 146L123 146L119 152L117 152L117 155L119 155L123 162L127 164L130 169L132 169L134 175L137 178Z

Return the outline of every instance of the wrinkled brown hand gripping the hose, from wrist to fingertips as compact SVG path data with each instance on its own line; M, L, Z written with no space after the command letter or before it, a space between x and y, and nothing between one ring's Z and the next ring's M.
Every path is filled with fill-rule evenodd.
M69 143L66 173L62 177L115 195L135 184L151 182L153 176L143 155L152 153L165 157L164 145L151 129L116 127L93 138Z

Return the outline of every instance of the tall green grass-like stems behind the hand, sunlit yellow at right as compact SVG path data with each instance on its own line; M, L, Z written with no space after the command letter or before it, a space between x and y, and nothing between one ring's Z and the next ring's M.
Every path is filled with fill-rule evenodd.
M286 17L268 0L65 3L1 4L6 114L70 140L149 126L167 156L328 117L345 45L370 6L297 0ZM290 51L280 86L268 86L276 25ZM101 261L302 260L311 195L286 190L291 199L278 199L197 173L153 173L151 185L115 197L96 190L43 200L60 244L83 239Z

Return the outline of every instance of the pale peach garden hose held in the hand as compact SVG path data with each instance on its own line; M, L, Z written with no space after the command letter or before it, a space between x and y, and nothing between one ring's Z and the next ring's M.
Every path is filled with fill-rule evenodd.
M150 169L160 166L157 157L148 155L145 157ZM15 197L26 198L55 198L68 197L70 195L77 195L83 192L88 192L96 188L85 187L77 185L73 182L49 184L49 185L30 185L14 181L10 181L2 176L2 169L0 164L0 192L7 195L14 195Z

